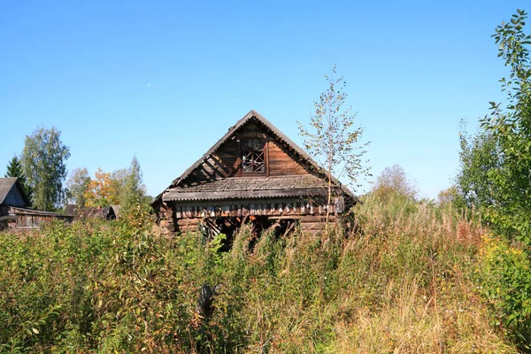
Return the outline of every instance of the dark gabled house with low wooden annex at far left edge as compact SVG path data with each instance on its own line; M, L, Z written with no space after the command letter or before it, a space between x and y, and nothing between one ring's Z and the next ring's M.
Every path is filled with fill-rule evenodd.
M0 229L38 228L52 219L72 221L72 218L57 212L42 212L28 209L30 202L18 178L0 178Z

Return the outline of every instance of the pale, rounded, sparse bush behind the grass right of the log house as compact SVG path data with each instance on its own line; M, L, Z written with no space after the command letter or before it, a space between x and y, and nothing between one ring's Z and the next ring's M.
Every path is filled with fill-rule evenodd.
M376 178L373 192L378 194L380 198L389 196L392 193L410 198L417 196L417 188L414 182L409 180L404 168L396 164L383 169Z

